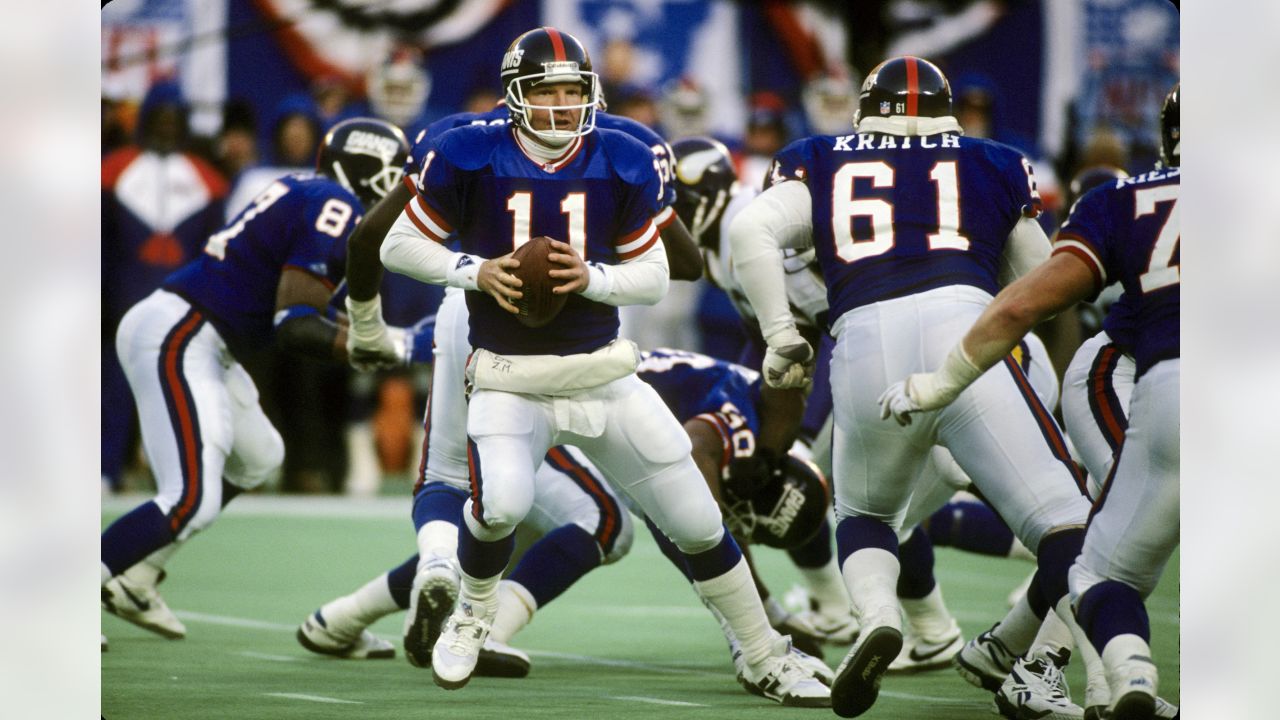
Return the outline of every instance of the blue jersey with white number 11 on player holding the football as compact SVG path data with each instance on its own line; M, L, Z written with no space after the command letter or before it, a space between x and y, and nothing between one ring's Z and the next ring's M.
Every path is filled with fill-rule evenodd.
M618 264L658 241L662 181L653 154L616 131L575 138L554 163L532 160L515 129L466 126L430 138L410 218L438 242L457 233L463 252L507 255L525 242L562 240L588 263ZM470 342L503 355L571 355L618 334L618 310L572 293L556 320L527 328L488 293L468 292Z

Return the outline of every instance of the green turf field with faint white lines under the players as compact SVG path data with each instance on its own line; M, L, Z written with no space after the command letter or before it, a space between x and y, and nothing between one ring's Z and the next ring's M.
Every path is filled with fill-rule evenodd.
M138 498L105 501L104 527ZM643 529L621 562L588 575L540 611L513 644L524 680L479 678L456 692L431 684L399 650L402 614L372 630L396 660L320 657L293 638L323 602L353 591L413 551L407 498L244 497L169 565L163 594L187 624L166 641L102 614L102 715L111 719L256 717L831 717L782 708L733 680L719 628ZM1030 565L937 551L937 575L965 635L987 629ZM760 551L774 592L799 582L786 556ZM1149 602L1161 694L1179 700L1178 559ZM847 648L831 648L835 666ZM1068 678L1084 696L1079 662ZM991 717L989 696L955 671L890 675L865 717Z

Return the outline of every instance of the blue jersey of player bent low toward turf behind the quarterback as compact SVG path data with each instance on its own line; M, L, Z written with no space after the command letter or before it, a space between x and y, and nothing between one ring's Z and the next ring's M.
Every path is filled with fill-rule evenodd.
M760 430L755 405L760 374L755 370L684 350L646 350L636 374L653 386L677 420L723 413L740 416L753 434ZM737 429L737 428L735 428Z

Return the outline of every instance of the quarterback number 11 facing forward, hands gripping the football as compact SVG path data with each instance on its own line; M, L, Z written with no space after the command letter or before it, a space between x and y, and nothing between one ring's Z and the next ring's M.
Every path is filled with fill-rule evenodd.
M471 497L458 527L461 592L431 655L436 684L456 689L470 679L512 530L532 503L536 465L552 446L571 442L607 475L627 478L620 489L689 556L699 594L742 644L749 684L787 705L826 705L826 688L768 625L687 438L635 378L635 347L617 341L616 307L655 302L668 283L654 224L664 192L652 151L595 128L598 78L572 36L554 28L522 35L500 77L512 127L468 126L431 138L417 195L380 249L392 270L472 291ZM442 245L454 231L463 252ZM554 292L568 297L535 331L513 316L521 290L509 255L538 234L568 240L556 241L549 256L561 265L550 270L562 283Z

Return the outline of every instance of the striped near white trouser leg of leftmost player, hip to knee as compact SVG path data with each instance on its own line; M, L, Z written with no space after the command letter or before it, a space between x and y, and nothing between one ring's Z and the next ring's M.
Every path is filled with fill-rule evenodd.
M232 447L227 347L180 297L156 291L120 322L116 352L138 409L156 505L179 538L209 525L221 506Z

